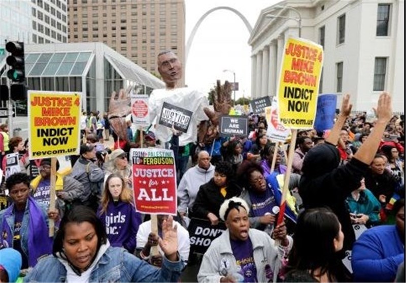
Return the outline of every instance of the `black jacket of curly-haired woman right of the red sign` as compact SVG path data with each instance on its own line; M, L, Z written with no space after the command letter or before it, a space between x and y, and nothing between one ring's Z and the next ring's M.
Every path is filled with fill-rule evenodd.
M229 182L227 184L227 194L223 197L220 193L220 188L214 183L214 179L211 178L208 183L200 186L190 216L206 219L207 214L212 212L219 217L221 204L227 199L239 196L241 191L238 185L234 182Z

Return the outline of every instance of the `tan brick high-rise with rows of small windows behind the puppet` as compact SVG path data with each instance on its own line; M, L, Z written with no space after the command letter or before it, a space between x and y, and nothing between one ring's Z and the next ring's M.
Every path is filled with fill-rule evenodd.
M184 61L184 0L70 0L68 8L69 42L103 42L157 76L159 52Z

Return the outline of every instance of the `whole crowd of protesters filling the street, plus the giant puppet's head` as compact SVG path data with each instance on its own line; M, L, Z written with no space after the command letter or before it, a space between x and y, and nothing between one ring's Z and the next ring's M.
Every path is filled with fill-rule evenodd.
M175 54L162 54L158 66L177 75ZM164 77L169 88L177 80ZM249 114L247 137L222 137L209 123L204 139L180 146L179 133L166 129L178 213L157 215L157 233L134 207L129 165L130 148L165 146L154 129L84 113L79 155L56 174L50 209L53 162L30 161L29 142L0 125L0 281L178 282L196 264L199 282L404 281L404 116L392 115L386 92L373 119L351 113L349 101L332 129L298 131L289 180L289 141L273 143L263 115ZM124 133L114 131L115 119L124 119ZM226 228L204 255L191 248L195 218Z

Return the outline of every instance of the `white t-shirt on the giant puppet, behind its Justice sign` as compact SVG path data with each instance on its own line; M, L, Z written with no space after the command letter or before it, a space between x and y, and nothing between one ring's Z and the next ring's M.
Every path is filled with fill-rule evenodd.
M203 110L204 107L209 106L206 95L201 91L188 87L155 89L152 91L148 100L150 122L152 123L155 117L157 117L155 137L162 142L168 142L172 138L172 130L164 125L158 124L163 102L193 112L187 133L183 133L179 137L179 146L185 146L188 143L196 141L198 123L202 120L209 119Z

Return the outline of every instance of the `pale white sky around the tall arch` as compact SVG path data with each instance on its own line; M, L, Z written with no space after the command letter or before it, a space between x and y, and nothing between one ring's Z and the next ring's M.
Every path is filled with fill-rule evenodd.
M207 11L228 6L242 13L254 28L261 10L280 0L185 0L185 46L196 22ZM185 83L205 93L215 86L216 80L239 83L235 97L251 96L251 46L250 34L243 20L229 10L216 10L200 24L189 50L185 66Z

